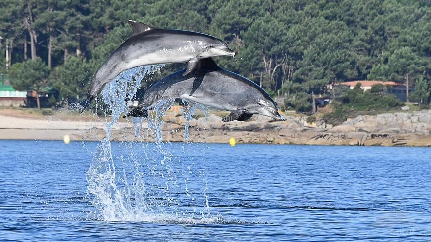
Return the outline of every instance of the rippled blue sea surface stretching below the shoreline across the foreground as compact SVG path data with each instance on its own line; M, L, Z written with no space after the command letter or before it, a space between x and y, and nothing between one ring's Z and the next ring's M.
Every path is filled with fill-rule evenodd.
M0 241L431 240L430 148L99 143L0 141Z

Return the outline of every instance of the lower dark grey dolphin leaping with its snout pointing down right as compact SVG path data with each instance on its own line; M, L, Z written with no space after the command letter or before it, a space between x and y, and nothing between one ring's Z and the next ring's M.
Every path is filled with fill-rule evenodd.
M277 104L261 87L249 79L217 66L212 58L201 59L199 68L184 76L187 69L175 72L148 88L140 105L124 117L146 117L148 109L167 98L182 98L230 111L222 121L245 121L253 114L285 120Z

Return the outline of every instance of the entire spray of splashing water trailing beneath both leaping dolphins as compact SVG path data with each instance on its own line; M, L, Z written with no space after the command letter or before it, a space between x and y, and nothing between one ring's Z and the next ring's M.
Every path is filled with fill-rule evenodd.
M111 119L105 124L106 137L98 145L98 151L87 172L86 197L96 208L89 214L91 219L173 223L209 223L220 220L220 216L209 216L208 188L202 172L192 172L190 166L194 163L171 154L163 143L162 117L174 103L174 99L162 100L151 107L153 111L149 112L147 118L147 134L154 134L155 144L136 143L133 140L116 143L114 147L111 144L111 129L120 115L127 111L125 100L134 97L145 75L152 74L161 67L163 65L144 66L125 71L102 91L103 101L112 113ZM183 116L188 122L197 107L201 106L188 102L183 110ZM203 106L201 109L205 112ZM133 119L135 138L138 140L142 123L142 118ZM188 137L188 131L185 131L185 137ZM184 188L182 182L178 181L178 176L190 180L191 184L186 183ZM203 191L199 189L202 180L205 181ZM178 196L187 196L188 204L181 206ZM195 214L197 207L202 208L200 216Z

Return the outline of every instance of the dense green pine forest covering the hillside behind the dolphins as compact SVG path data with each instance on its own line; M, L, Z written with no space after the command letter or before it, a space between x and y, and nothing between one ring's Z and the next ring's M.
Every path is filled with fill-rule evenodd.
M0 11L0 73L19 90L55 89L60 105L82 101L129 19L224 39L238 54L220 66L292 106L364 79L420 80L429 102L428 0L2 0Z

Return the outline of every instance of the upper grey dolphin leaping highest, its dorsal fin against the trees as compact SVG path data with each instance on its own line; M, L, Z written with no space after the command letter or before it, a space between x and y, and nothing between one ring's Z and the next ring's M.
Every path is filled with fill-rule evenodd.
M97 70L82 111L107 83L124 70L137 66L188 62L187 71L183 73L187 75L200 58L235 55L226 42L211 35L157 29L133 20L127 22L133 28L132 37L121 44Z

